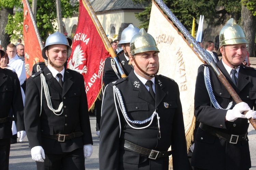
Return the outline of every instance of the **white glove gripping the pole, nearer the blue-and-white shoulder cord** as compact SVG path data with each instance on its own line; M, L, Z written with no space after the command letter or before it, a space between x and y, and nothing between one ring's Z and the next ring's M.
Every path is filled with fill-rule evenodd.
M249 111L251 108L248 106L247 103L241 102L234 106L234 108L227 111L226 114L226 120L233 122L237 120L237 118L246 118L244 114L242 114L244 111Z

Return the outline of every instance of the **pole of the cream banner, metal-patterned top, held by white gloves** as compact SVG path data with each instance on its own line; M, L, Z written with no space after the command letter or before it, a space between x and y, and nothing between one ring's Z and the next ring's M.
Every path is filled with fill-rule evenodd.
M177 17L171 12L171 10L166 6L166 4L162 0L155 0L158 5L162 8L162 10L171 18L172 22L181 30L181 32L186 36L186 38L190 41L191 44L197 49L197 51L201 54L204 60L209 64L217 75L218 79L222 82L225 88L228 90L231 97L234 99L236 103L242 102L241 98L238 96L237 92L233 89L233 87L229 84L223 73L218 69L217 65L212 61L212 59L207 55L204 49L197 43L196 39L187 31L187 29L183 26L183 24L177 19ZM243 112L243 114L246 114ZM256 130L256 120L248 119L252 124L253 128Z

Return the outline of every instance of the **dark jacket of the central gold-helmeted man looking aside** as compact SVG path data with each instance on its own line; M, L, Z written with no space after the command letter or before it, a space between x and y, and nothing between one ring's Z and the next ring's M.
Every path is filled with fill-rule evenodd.
M116 102L118 106L117 113L113 96L114 85L120 90L127 115L131 120L142 121L150 118L156 109L160 117L161 138L156 117L149 127L133 129L127 124ZM131 71L127 78L118 79L106 86L100 129L100 169L168 169L169 157L150 159L146 155L131 151L120 145L120 140L124 139L138 146L158 151L167 151L172 146L174 169L188 169L189 162L179 87L173 80L157 75L155 77L155 91L156 102L134 71ZM118 115L121 127L119 126ZM148 124L131 123L136 128Z

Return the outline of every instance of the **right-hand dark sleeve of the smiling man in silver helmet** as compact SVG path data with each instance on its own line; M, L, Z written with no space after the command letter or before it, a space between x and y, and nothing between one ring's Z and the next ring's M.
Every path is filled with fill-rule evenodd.
M84 86L84 78L81 75L81 96L80 96L80 104L79 104L79 120L80 126L83 133L83 142L84 145L92 144L93 145L93 138L91 136L91 126L90 126L90 118L88 113L88 104L87 104L87 97L85 92Z

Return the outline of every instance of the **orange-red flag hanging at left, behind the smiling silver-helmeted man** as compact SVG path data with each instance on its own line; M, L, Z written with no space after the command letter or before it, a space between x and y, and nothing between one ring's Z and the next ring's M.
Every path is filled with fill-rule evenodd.
M24 36L24 56L25 56L25 68L27 78L32 74L32 67L35 63L43 62L42 51L39 45L37 34L33 26L33 22L29 13L29 4L23 0L24 22L23 22L23 36ZM29 6L30 8L30 6ZM31 11L31 8L30 8ZM32 16L33 17L33 16Z

